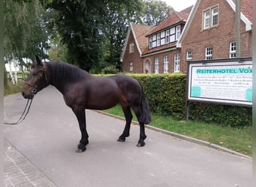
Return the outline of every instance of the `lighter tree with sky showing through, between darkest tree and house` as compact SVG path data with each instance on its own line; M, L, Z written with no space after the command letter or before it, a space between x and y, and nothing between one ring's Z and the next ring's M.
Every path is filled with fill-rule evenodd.
M103 15L104 61L121 70L121 52L129 22L141 22L141 1L109 1Z

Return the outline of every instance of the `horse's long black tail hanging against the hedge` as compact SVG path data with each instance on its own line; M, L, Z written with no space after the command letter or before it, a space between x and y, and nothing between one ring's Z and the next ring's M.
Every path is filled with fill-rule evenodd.
M141 85L141 83L139 82ZM144 123L144 124L149 124L151 121L150 117L150 111L149 111L149 106L147 105L146 98L144 96L144 91L141 85L141 90L142 90L142 95L141 95L141 117L139 119L139 123Z

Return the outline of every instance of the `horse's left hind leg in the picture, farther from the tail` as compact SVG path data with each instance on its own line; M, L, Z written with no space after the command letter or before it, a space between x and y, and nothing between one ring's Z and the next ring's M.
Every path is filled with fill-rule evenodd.
M122 106L122 108L123 108L124 116L127 122L124 127L124 132L118 138L118 141L125 141L125 138L129 136L129 129L132 122L132 112L129 106Z

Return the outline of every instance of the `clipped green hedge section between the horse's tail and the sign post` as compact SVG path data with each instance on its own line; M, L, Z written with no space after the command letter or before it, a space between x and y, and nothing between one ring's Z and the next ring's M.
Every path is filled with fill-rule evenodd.
M132 75L143 85L150 109L156 114L184 117L186 75L181 73Z

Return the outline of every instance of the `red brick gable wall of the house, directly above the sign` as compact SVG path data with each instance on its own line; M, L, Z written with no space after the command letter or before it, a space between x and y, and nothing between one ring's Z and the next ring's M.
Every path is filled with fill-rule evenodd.
M203 10L219 4L219 25L203 30ZM213 59L229 58L229 45L235 41L235 13L227 1L201 1L198 10L182 42L182 58L186 61L186 51L192 51L192 60L204 60L205 48L213 47ZM241 21L241 56L252 57L252 33L246 31Z

